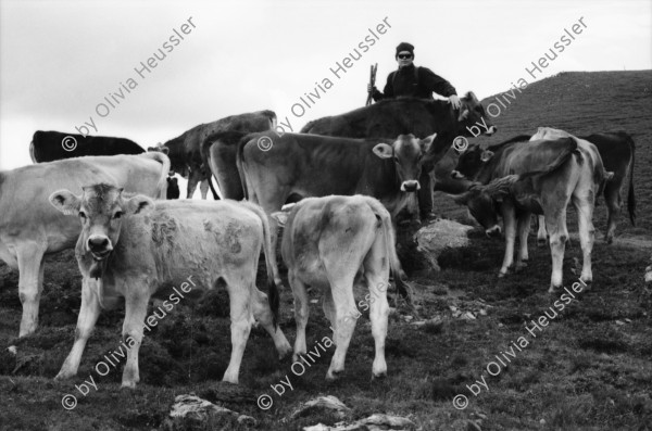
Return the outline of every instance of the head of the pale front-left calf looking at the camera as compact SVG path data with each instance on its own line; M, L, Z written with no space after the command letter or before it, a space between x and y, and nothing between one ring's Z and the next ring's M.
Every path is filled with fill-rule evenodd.
M80 197L68 190L59 190L50 195L50 203L65 215L78 216L82 233L77 246L90 253L96 262L104 261L120 240L123 217L139 214L154 207L154 202L145 195L123 197L123 189L99 183L84 187Z

